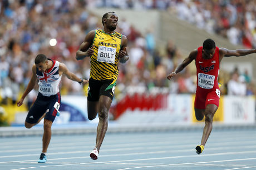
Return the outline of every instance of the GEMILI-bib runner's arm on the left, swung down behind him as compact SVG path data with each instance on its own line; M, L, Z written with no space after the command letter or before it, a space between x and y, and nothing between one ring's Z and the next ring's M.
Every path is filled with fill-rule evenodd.
M27 86L25 92L22 94L21 99L19 99L19 101L17 102L17 106L21 106L23 104L24 98L35 87L36 79L37 79L37 76L36 76L36 64L33 64L33 67L32 67L32 77L31 77L31 79L30 79L30 81L28 83L28 86Z

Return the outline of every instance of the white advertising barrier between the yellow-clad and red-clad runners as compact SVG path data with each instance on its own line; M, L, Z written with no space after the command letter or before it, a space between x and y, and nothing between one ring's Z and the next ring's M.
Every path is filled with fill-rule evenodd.
M169 94L168 106L166 108L141 111L139 108L134 111L125 111L117 122L129 124L191 124L191 95L190 94Z

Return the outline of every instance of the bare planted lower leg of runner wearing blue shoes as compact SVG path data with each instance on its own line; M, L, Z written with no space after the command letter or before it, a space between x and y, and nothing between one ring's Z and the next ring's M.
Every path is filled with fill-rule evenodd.
M51 127L52 127L52 121L45 119L45 121L43 122L43 130L44 130L44 132L43 132L43 150L42 150L43 153L47 152L47 148L51 141L51 136L52 136Z

